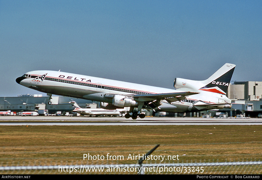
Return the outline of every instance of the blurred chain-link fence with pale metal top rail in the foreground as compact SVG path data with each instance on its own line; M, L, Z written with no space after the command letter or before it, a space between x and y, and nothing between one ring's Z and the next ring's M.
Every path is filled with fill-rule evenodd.
M154 163L145 161L139 164L81 164L70 162L50 165L2 166L1 174L261 174L262 161L239 162L187 162ZM38 162L39 163L39 162ZM80 164L78 164L80 163ZM55 164L55 165L51 165Z

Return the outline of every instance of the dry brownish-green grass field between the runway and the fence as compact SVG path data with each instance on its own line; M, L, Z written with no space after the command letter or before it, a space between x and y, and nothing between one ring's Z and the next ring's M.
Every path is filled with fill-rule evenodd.
M145 154L156 144L152 155L179 155L170 162L257 161L261 132L259 125L0 126L0 166L136 164L127 160L129 154ZM83 160L88 153L124 160ZM150 162L160 163L145 163Z

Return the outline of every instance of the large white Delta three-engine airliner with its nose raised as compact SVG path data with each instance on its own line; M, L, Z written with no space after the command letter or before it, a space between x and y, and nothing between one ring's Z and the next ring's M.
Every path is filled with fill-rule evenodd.
M30 71L16 79L22 86L47 93L48 104L52 94L100 102L100 108L130 107L125 118L144 118L142 109L187 113L211 109L230 109L226 97L234 64L226 63L203 81L175 78L175 89L141 85L105 78L71 74L59 71Z

